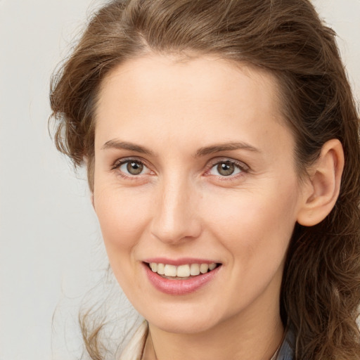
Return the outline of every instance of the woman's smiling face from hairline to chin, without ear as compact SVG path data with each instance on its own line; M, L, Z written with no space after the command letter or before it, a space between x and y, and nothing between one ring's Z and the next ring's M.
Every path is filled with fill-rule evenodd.
M117 281L153 326L278 316L302 195L277 91L266 72L205 57L138 58L104 80L94 208Z

